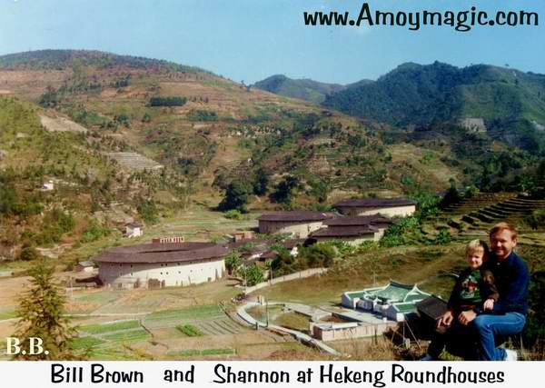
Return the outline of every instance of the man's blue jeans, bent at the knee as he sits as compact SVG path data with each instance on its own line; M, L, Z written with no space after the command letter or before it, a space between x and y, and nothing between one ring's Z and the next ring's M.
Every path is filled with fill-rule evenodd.
M481 314L471 323L479 336L479 359L501 361L505 359L505 349L496 347L494 336L520 333L526 317L521 313Z

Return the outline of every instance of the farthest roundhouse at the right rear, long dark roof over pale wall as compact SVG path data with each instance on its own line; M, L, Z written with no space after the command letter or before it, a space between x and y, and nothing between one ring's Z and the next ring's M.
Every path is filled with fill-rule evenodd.
M344 215L382 214L389 217L414 214L416 202L406 198L366 198L348 199L333 207Z

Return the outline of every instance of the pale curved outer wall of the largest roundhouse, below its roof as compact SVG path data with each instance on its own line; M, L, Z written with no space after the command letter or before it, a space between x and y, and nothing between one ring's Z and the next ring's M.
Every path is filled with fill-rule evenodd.
M104 286L116 288L133 288L138 281L147 288L150 280L163 287L200 284L213 282L224 273L224 260L216 258L185 263L101 263L98 270Z

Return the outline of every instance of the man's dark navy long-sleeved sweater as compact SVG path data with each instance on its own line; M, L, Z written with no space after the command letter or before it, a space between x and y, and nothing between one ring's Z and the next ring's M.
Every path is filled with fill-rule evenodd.
M530 271L528 264L517 254L511 252L503 261L494 256L484 264L494 274L495 284L500 292L500 299L494 303L491 312L523 313L528 312L528 286L530 284Z

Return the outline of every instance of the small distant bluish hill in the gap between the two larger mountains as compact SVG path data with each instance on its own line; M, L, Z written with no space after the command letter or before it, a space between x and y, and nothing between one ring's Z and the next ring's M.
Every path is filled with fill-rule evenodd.
M371 81L362 80L353 85L362 85L368 82ZM312 79L292 79L285 75L272 75L263 81L256 82L253 86L275 95L300 98L314 104L322 104L326 95L339 92L352 85L325 84Z

